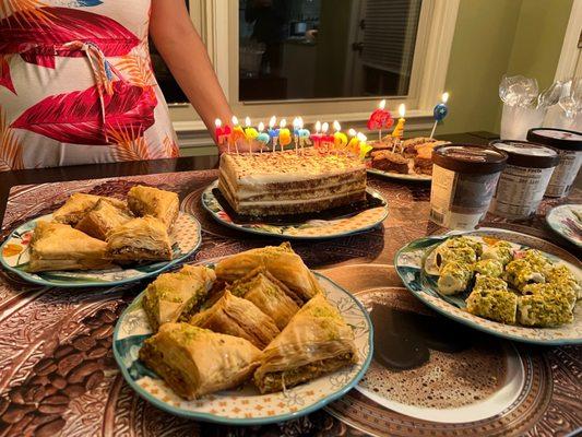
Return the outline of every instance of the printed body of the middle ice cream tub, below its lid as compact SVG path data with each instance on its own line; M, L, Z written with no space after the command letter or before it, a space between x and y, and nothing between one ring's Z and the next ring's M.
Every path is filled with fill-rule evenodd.
M499 177L491 211L509 218L526 218L539 205L554 168L506 166Z

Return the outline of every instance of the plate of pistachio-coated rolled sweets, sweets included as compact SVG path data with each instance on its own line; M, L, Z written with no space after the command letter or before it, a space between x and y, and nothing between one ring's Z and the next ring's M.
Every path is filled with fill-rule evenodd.
M559 253L559 255L553 255ZM502 338L582 343L582 271L525 234L478 229L412 241L395 257L406 287L431 308Z

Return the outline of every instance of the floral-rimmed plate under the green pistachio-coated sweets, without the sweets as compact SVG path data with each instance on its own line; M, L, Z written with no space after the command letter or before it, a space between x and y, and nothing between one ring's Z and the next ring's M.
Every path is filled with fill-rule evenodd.
M480 228L463 233L463 235L503 239L521 248L542 250L555 263L567 264L578 280L582 281L582 270L577 258L541 238L497 228ZM582 304L580 303L575 306L572 323L557 328L527 328L503 324L474 316L465 310L465 302L461 297L440 295L437 291L437 276L429 274L430 269L426 272L425 262L430 259L431 251L451 236L452 234L447 234L419 238L397 251L394 258L396 272L406 288L418 299L453 320L509 340L544 345L582 344Z

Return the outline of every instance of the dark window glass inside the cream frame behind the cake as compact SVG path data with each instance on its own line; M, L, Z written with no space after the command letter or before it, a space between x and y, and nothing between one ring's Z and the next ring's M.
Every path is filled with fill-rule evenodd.
M239 99L408 92L421 0L239 0Z

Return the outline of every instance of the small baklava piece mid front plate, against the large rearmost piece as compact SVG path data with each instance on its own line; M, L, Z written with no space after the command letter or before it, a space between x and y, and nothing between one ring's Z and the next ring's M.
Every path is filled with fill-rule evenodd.
M235 296L252 302L257 308L271 317L278 329L287 326L299 310L297 295L264 268L250 272L228 288ZM299 305L298 305L299 304Z

